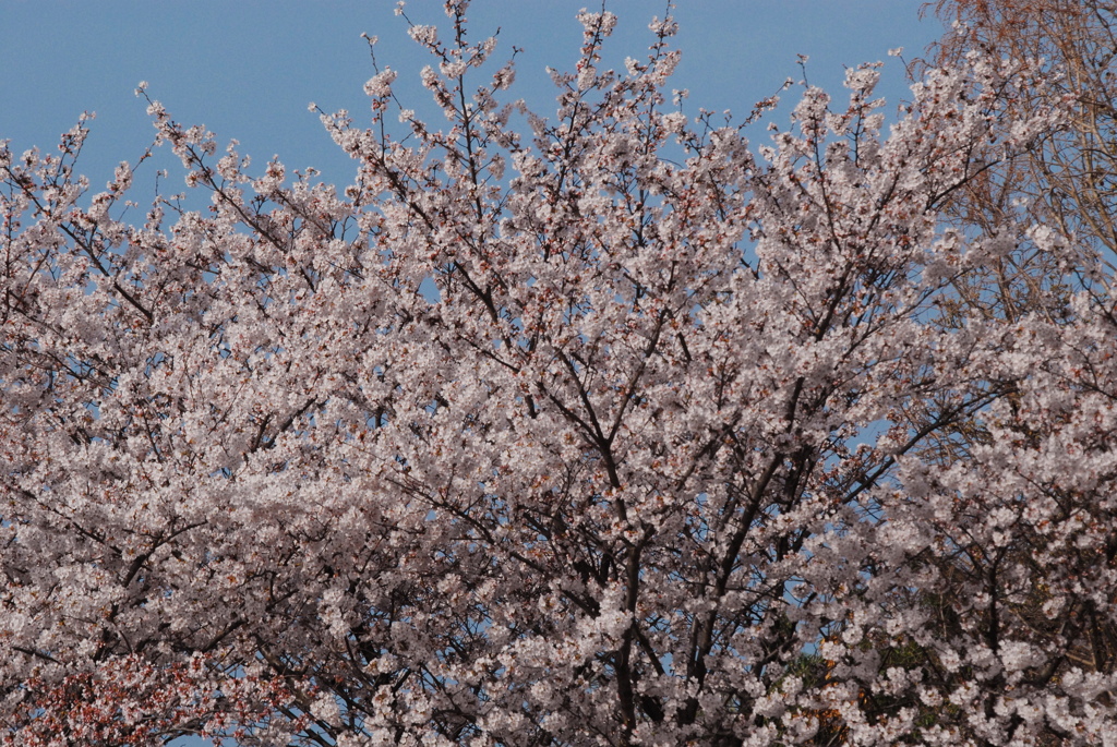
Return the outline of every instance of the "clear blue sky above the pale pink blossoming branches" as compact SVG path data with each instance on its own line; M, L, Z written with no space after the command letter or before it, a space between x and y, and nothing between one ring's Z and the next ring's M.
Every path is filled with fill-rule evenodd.
M907 84L888 49L904 47L911 58L942 33L934 18L919 21L920 4L678 0L682 61L671 87L690 90L691 113L701 106L744 116L786 77L801 77L796 55L803 54L811 83L836 97L846 66L888 60L880 93L895 103ZM595 9L600 0L475 0L470 9L477 38L500 27L496 60L510 45L525 49L513 93L541 114L552 97L544 69L565 69L576 59L574 16L584 6ZM400 71L404 104L423 111L418 71L428 58L393 8L394 0L0 0L0 140L12 141L17 153L54 149L83 111L96 112L79 171L99 190L117 162L134 162L151 141L146 105L133 95L147 80L174 119L204 124L221 143L239 140L256 166L278 154L288 167L315 166L327 181L346 181L352 165L307 104L349 108L361 122L367 111L362 86L373 74L360 38L367 32L380 37L380 64ZM663 13L666 0L610 0L608 8L620 25L605 61L619 67L624 57L643 55L647 23ZM420 23L447 20L436 0L411 0L408 13ZM150 188L153 172L137 174L140 190ZM178 179L180 172L172 166L171 173Z

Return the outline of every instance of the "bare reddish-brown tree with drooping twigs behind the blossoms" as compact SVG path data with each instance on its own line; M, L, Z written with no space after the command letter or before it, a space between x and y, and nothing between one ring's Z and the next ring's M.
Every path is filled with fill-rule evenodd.
M1054 74L1050 85L1025 87L1012 105L1021 114L1068 106L1066 125L1046 133L1027 152L1008 160L976 159L980 173L958 191L951 211L990 239L1027 211L1073 237L1079 250L1099 252L1110 262L1117 250L1117 6L1105 0L939 0L934 8L952 28L929 50L934 65L951 65L970 54L1035 60ZM1051 290L1059 290L1061 268L1044 264L1042 252L1030 251L1022 237L1002 238L1020 246L989 269L982 287L997 288L996 307L1003 314L1033 312L1052 297ZM978 296L980 288L960 288L960 297L971 305Z

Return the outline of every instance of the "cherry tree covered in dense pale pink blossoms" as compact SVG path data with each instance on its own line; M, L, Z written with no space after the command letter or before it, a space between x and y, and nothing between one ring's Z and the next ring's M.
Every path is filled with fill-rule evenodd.
M409 21L445 123L388 67L322 113L344 189L155 100L142 223L84 123L0 151L4 744L1117 739L1110 276L943 213L1046 78L970 55L886 133L862 66L754 147L670 19L614 71L580 15L545 118L466 10ZM956 303L1020 242L1065 290Z

